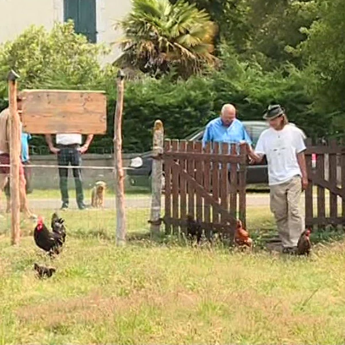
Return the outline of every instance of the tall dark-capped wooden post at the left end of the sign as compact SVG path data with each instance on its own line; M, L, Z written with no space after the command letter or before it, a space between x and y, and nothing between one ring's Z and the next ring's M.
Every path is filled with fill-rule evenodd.
M20 240L20 119L17 109L17 78L13 70L8 75L10 109L10 193L11 193L11 244L18 245Z

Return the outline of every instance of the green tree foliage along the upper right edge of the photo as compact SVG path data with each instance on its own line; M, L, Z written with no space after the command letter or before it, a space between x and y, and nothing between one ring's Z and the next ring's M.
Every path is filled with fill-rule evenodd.
M334 115L334 125L345 131L345 2L319 2L319 19L304 32L308 39L299 51L306 63L306 88L314 108Z

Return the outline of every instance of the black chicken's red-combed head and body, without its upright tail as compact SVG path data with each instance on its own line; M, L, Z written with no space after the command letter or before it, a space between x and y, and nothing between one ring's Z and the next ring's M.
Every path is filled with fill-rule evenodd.
M33 238L36 245L45 250L49 255L60 254L62 247L62 236L51 233L43 223L42 217L38 218L37 225L33 231Z

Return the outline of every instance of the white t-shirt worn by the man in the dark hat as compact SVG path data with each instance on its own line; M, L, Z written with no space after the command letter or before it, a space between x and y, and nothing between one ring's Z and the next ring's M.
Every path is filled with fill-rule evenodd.
M297 154L305 149L302 131L295 126L286 125L280 131L273 128L264 130L255 152L267 157L268 184L278 185L295 175L301 176Z

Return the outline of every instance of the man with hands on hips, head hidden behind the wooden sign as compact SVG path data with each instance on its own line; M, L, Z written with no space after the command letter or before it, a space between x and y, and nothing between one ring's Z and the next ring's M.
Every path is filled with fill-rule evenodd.
M57 134L56 135L56 147L53 145L52 137L50 134L46 134L46 141L50 151L57 155L60 178L60 192L62 199L61 210L68 209L69 197L68 197L68 165L73 168L73 177L76 186L77 205L80 210L85 209L84 193L81 179L81 155L84 154L93 139L93 134L89 134L86 138L84 145L81 146L82 136L81 134Z

